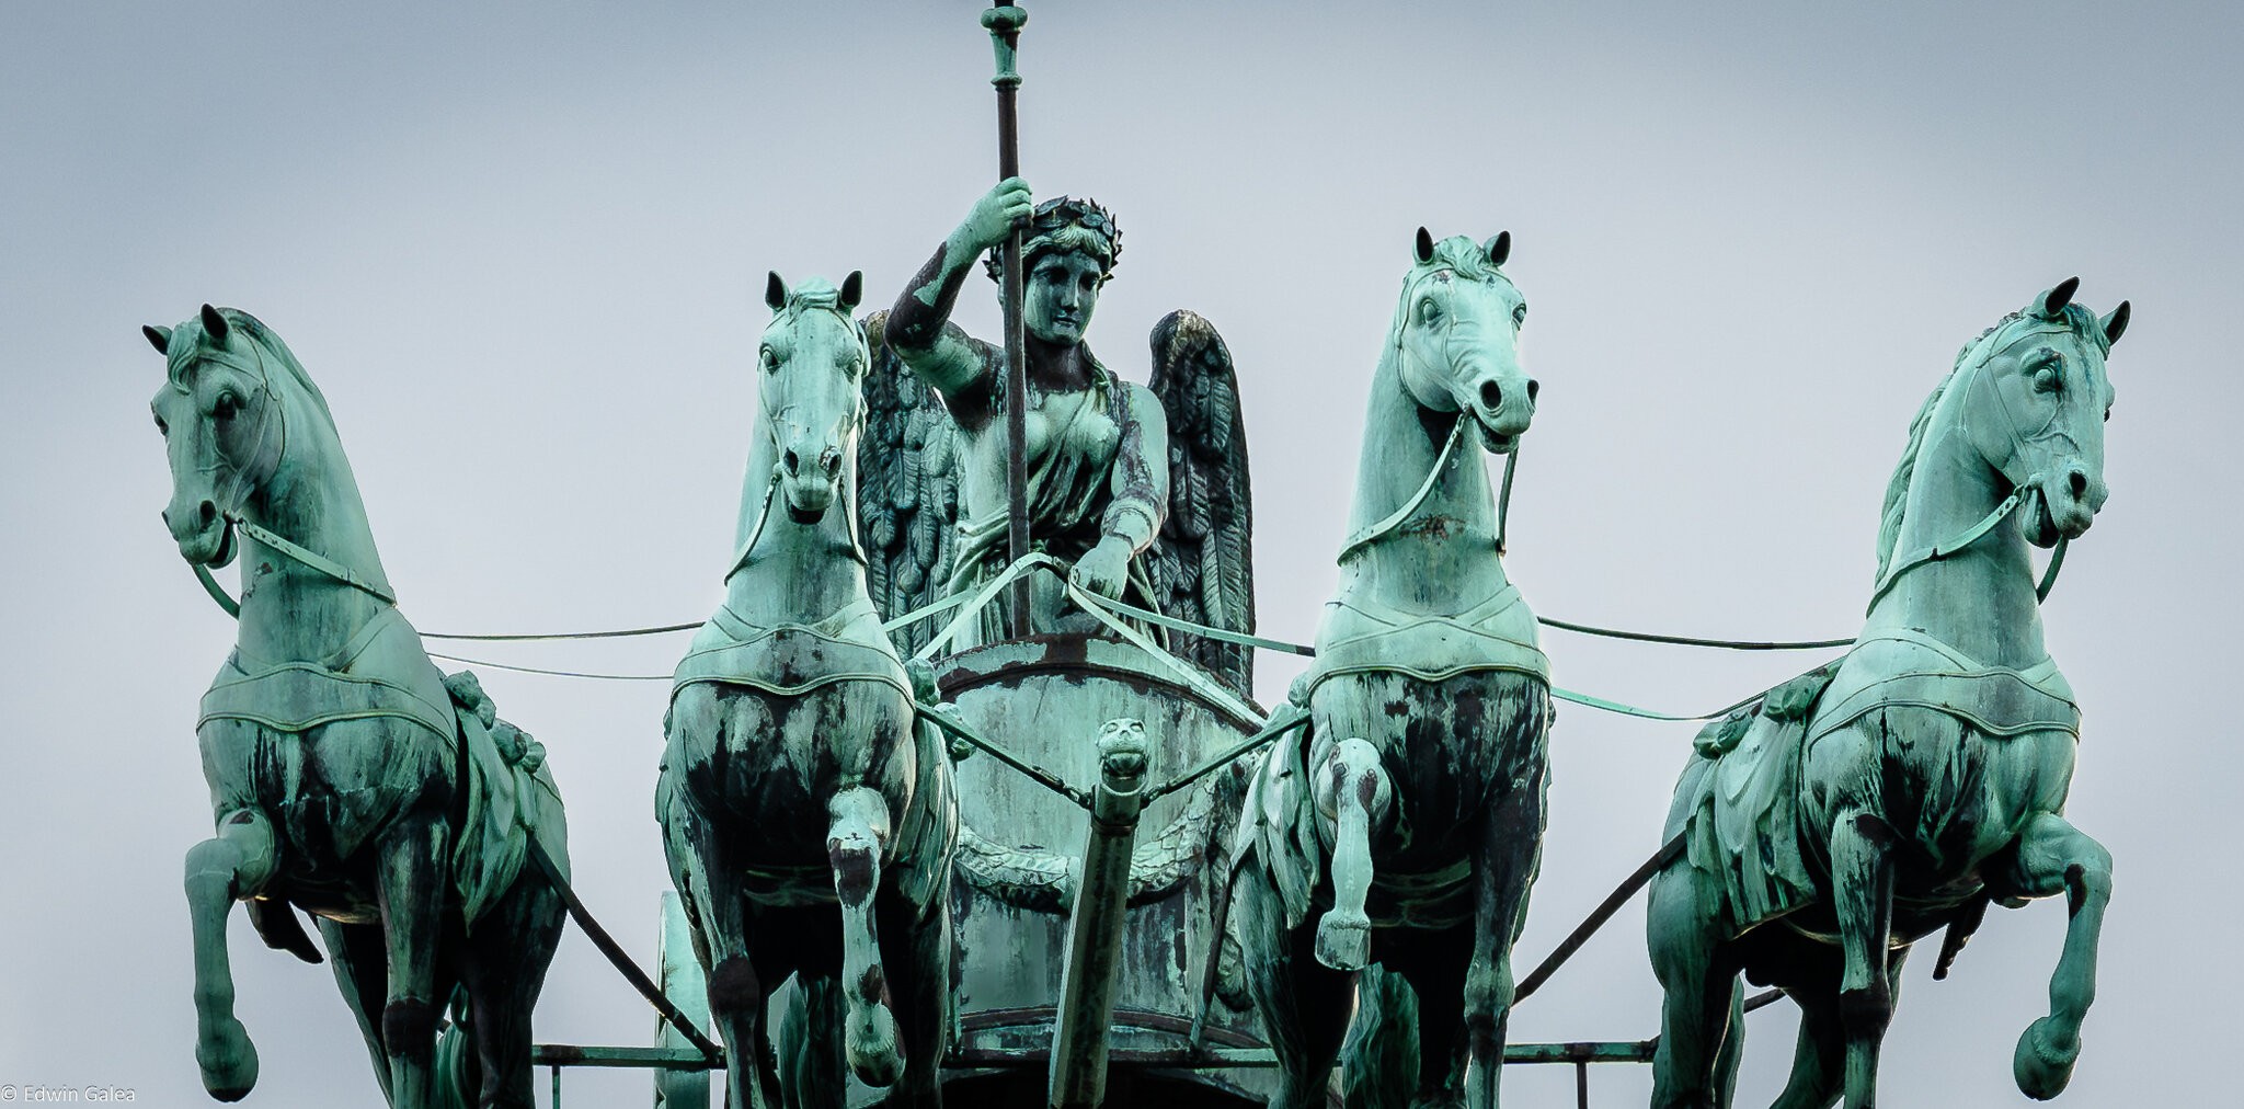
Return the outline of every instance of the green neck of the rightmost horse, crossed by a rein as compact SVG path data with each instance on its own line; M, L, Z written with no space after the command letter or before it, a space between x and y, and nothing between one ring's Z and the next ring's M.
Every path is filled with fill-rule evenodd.
M1959 413L1972 391L1970 382L1957 384L1964 388L1941 397L1925 429L1894 563L1930 546L1946 548L2008 496L2004 478L1961 429ZM1903 572L1871 606L1865 635L1896 629L1921 631L1993 667L2031 667L2049 658L2020 514L1957 554Z

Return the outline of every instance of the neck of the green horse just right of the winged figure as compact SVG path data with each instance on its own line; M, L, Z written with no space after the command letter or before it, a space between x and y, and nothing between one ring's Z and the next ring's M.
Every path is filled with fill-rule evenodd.
M1403 386L1400 350L1389 339L1371 375L1364 447L1355 465L1355 507L1349 534L1400 510L1425 483L1463 413L1420 406ZM1373 588L1391 604L1479 599L1503 586L1497 548L1497 503L1481 462L1481 444L1459 442L1434 489L1385 537L1342 566L1342 590Z

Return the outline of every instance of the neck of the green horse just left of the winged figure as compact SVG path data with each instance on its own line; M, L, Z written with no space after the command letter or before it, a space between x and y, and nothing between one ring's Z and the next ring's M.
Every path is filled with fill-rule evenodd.
M873 590L850 532L857 519L855 451L844 451L842 494L826 507L826 516L797 523L772 483L779 447L763 420L756 422L754 442L747 451L747 478L741 483L734 543L754 534L756 546L725 581L725 606L749 624L770 626L817 624L859 599L871 604Z

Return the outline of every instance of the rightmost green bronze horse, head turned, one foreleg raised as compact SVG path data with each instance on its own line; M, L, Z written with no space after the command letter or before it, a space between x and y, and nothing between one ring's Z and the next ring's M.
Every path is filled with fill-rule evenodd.
M2080 712L2038 602L2107 496L2105 355L2130 312L2098 321L2076 287L1966 343L1910 424L1847 656L1699 736L1667 817L1681 853L1652 880L1654 1107L1730 1105L1746 974L1800 1006L1775 1105L1867 1109L1910 947L1946 927L1946 977L1990 902L2056 893L2064 952L2013 1073L2031 1098L2069 1082L2112 855L2062 815ZM2040 588L2029 543L2058 546Z

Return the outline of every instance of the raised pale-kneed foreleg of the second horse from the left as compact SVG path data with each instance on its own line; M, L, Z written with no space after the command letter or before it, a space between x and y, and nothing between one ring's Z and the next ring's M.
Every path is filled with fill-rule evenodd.
M844 1051L848 1066L868 1087L895 1084L902 1055L895 1048L895 1015L889 1012L889 981L880 965L880 934L873 927L873 893L880 891L880 860L889 849L889 799L857 786L826 804L826 860L842 900L842 999L848 1008Z

